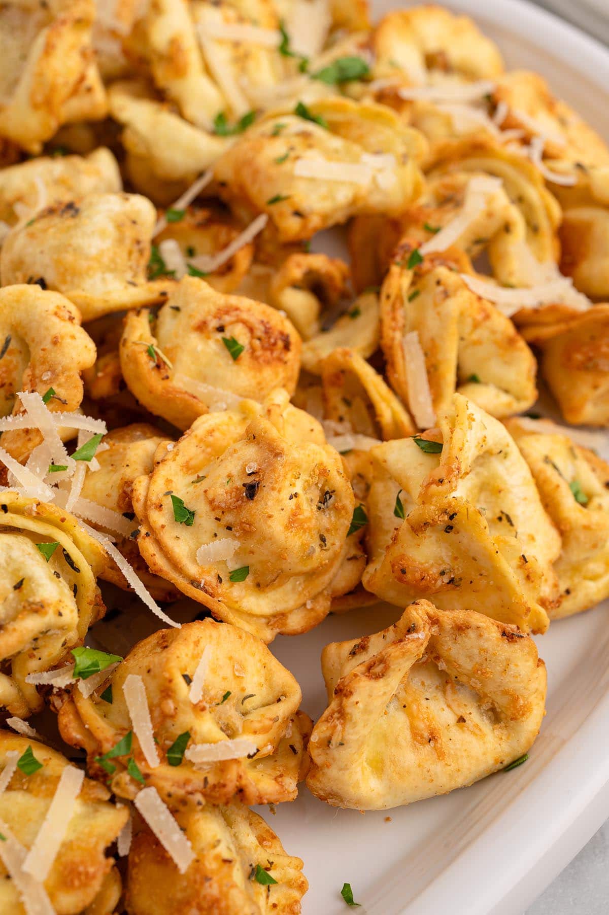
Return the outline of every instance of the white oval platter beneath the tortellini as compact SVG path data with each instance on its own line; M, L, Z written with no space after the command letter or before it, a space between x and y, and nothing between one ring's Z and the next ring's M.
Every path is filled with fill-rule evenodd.
M404 5L373 0L375 16ZM538 70L609 137L609 51L520 0L447 3L474 16L510 68ZM386 813L337 811L306 789L262 813L304 860L304 915L345 915L351 883L367 915L518 915L609 816L609 604L553 623L538 640L549 673L548 714L527 764L472 788ZM320 652L380 630L397 608L330 617L277 657L299 680L303 708L325 707ZM386 822L386 816L391 822Z

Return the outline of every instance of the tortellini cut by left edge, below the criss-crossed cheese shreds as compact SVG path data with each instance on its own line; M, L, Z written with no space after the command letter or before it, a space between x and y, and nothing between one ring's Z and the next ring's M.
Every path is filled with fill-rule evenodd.
M71 661L70 649L103 616L96 576L105 557L56 505L9 490L0 493L0 510L0 705L27 717L43 707L27 674Z

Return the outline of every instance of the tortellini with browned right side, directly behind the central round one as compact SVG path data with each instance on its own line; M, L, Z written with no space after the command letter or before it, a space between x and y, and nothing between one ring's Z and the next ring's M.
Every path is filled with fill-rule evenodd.
M125 319L123 377L141 404L179 429L210 407L296 389L299 334L275 308L185 276L150 318L142 310Z

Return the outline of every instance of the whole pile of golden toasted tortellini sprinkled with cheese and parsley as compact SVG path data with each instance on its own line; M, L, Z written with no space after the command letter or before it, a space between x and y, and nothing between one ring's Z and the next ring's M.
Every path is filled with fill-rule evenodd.
M0 909L296 915L250 807L520 764L531 634L609 597L604 433L528 413L609 426L609 149L435 5L4 0L0 52ZM268 646L354 608L313 723Z

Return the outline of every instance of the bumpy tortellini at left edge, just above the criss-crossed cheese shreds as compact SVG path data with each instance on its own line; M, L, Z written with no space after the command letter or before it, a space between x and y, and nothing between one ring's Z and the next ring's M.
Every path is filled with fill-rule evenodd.
M81 316L64 296L36 283L0 289L0 416L23 413L19 391L48 398L51 413L71 412L82 402L81 372L95 361L95 345ZM8 429L2 447L17 460L42 441L36 428Z

